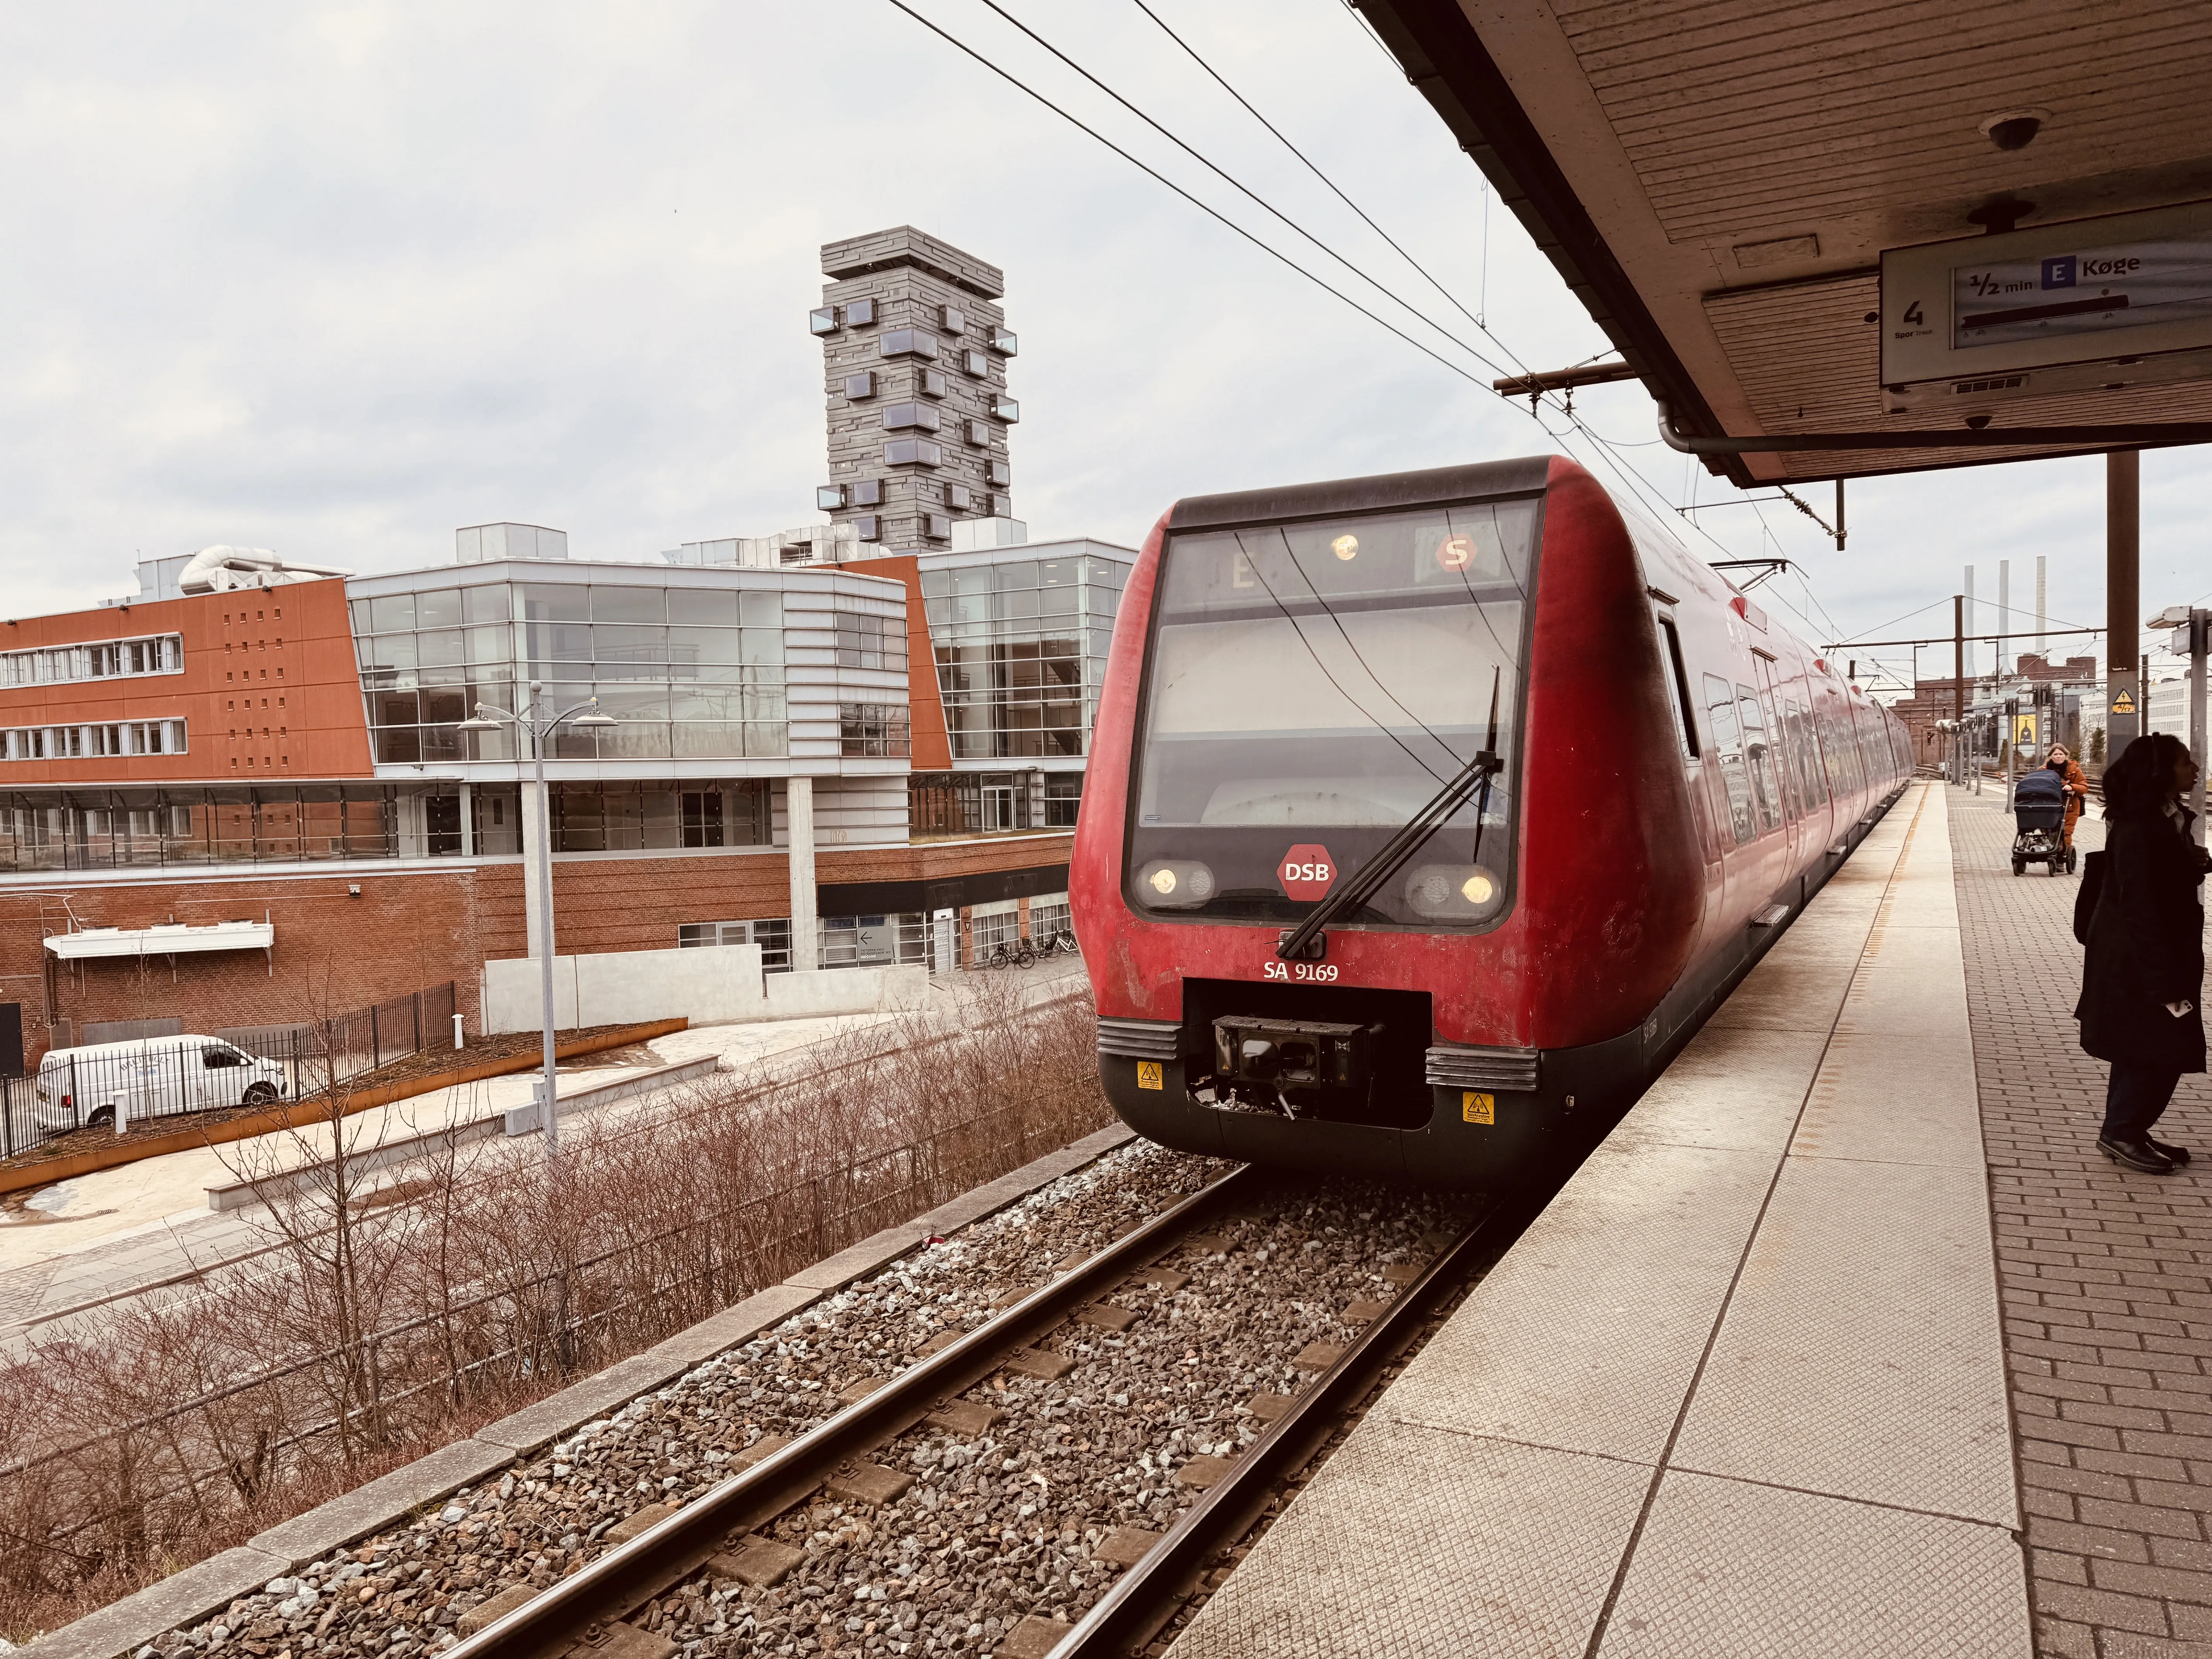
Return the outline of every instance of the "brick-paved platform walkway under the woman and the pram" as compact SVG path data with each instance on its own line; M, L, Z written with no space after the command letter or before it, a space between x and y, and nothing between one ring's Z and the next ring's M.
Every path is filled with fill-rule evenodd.
M2002 792L1949 803L2037 1648L2212 1659L2212 1088L2183 1077L2159 1126L2194 1170L2097 1152L2075 880L2011 874Z

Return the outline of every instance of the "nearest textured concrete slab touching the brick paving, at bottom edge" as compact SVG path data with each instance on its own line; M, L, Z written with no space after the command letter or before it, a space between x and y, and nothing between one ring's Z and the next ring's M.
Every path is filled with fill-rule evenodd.
M1668 1471L1599 1659L2026 1659L1995 1526Z

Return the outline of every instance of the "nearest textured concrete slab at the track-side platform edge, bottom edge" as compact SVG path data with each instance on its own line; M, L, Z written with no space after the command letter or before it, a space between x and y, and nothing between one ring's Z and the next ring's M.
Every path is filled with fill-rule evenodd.
M1582 1655L1650 1475L1369 1416L1170 1655Z

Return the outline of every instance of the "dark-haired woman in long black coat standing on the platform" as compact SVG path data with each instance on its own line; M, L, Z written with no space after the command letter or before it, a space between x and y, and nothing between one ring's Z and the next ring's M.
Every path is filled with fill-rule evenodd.
M2115 1164L2172 1175L2188 1148L2154 1141L2174 1086L2205 1068L2205 854L2181 794L2197 765L2168 732L2139 737L2104 774L2104 891L2081 967L2081 1046L2112 1064L2097 1146Z

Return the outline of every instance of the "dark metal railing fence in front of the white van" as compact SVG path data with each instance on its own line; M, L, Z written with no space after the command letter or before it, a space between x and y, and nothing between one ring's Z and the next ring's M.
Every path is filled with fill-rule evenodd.
M274 1106L447 1048L453 989L447 980L332 1020L51 1048L29 1075L0 1079L0 1157L80 1128Z

